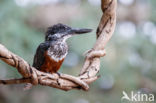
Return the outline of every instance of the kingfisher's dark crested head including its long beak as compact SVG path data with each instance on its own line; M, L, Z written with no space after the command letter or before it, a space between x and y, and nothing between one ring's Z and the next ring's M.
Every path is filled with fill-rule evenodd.
M49 27L46 35L45 41L57 41L57 40L66 40L69 37L76 34L84 34L91 32L92 29L74 29L64 24L56 24L52 27Z

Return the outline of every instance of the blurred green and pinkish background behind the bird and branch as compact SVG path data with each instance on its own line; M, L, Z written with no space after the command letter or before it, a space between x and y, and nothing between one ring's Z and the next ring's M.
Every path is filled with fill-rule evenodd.
M30 64L48 26L87 27L90 34L68 40L69 54L59 72L77 75L83 53L95 43L102 16L100 0L0 0L0 43ZM117 27L88 92L24 85L0 86L0 103L121 103L122 91L156 94L156 0L118 0ZM0 79L20 78L0 61ZM148 102L146 102L148 103Z

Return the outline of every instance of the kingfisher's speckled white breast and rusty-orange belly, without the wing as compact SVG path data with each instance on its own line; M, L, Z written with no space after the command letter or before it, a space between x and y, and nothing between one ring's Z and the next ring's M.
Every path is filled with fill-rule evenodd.
M60 69L67 53L68 46L66 43L52 43L44 53L45 60L40 70L49 73L56 73Z

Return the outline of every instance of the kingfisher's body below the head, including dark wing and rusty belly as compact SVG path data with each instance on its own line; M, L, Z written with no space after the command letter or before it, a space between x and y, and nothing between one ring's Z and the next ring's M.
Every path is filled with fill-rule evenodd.
M45 41L44 43L41 43L37 48L34 57L33 66L38 70L44 72L50 72L50 73L57 72L56 70L60 68L59 65L62 64L67 53L68 53L68 46L63 41L60 42Z

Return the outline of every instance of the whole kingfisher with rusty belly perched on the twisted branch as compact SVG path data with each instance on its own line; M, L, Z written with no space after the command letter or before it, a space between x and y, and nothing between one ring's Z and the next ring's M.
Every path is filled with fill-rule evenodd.
M74 29L61 23L49 27L45 33L45 41L36 50L33 67L46 73L58 73L68 54L66 40L73 35L91 31L92 29L86 28Z

